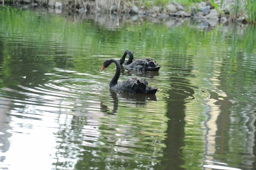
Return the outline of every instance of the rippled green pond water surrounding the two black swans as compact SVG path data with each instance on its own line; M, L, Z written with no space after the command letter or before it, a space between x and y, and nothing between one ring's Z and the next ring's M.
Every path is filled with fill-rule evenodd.
M254 26L0 16L1 169L256 168ZM102 63L126 49L161 69L119 82L145 78L156 95L109 89L116 66Z

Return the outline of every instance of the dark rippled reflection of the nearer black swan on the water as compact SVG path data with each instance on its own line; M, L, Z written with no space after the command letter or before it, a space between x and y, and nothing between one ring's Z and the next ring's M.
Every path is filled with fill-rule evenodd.
M112 104L113 102L113 109L112 105L109 103L100 102L100 110L105 112L108 115L116 115L118 110L118 103L130 103L132 105L147 105L147 100L156 101L156 95L148 95L148 94L132 94L129 92L119 92L114 89L109 89L109 100Z

